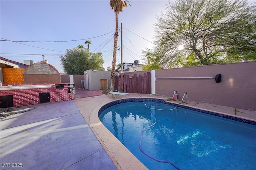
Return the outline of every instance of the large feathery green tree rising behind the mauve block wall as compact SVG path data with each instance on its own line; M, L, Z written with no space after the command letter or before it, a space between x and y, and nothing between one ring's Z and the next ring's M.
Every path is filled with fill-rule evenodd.
M176 0L157 19L154 62L163 67L256 59L255 3Z

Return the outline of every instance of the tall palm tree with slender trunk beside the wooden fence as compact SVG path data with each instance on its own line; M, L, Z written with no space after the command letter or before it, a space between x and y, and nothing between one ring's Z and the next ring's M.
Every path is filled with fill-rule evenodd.
M127 6L128 0L110 0L110 8L114 10L116 14L116 32L114 35L114 51L113 51L113 60L112 60L112 69L111 69L111 79L110 79L110 91L114 91L114 79L116 77L116 47L118 39L118 13L123 12L123 8Z

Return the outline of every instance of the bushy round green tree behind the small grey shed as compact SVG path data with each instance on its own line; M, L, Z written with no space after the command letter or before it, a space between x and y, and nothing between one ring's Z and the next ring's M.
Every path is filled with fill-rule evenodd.
M60 55L62 68L69 75L84 75L88 69L104 70L102 53L90 53L88 49L75 47L66 49L64 55Z

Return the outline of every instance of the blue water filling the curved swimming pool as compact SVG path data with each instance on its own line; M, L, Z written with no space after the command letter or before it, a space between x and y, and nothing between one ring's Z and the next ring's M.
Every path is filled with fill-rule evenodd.
M176 168L142 151L184 170L256 169L255 125L149 99L120 101L99 114L104 126L150 170Z

